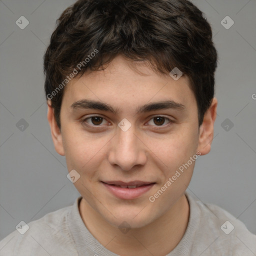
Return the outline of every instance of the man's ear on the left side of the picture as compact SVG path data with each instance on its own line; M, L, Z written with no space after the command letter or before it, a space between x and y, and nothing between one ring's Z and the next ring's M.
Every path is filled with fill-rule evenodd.
M47 119L48 119L48 122L50 125L51 137L52 137L52 141L53 141L55 150L60 155L65 155L63 143L62 143L62 135L61 135L60 129L56 123L55 116L54 116L54 109L50 105L50 100L47 101L47 109L48 109Z

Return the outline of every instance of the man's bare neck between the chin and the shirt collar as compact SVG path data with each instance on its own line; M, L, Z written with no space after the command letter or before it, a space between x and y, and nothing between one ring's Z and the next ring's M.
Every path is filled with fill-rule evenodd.
M189 204L184 194L162 216L125 234L107 222L83 198L79 211L90 233L108 250L122 256L168 254L184 235L189 218Z

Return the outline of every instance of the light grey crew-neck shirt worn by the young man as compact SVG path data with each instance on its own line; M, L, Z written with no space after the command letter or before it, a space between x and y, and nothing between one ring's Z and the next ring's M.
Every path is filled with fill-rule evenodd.
M189 202L188 225L178 245L166 256L256 255L256 235L240 220L214 204L204 204L187 192L185 195ZM24 234L11 232L0 241L0 256L117 256L84 225L78 208L80 199L29 222Z

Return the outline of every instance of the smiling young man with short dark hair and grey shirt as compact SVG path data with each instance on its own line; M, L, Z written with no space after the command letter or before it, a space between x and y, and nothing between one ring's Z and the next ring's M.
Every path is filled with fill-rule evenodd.
M187 0L68 7L44 55L45 94L81 196L9 234L0 255L256 255L241 221L186 192L213 139L216 62Z

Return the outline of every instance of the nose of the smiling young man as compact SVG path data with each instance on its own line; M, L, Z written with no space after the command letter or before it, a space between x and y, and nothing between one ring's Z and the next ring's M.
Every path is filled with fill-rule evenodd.
M134 125L123 131L117 128L117 134L110 141L108 161L118 165L122 170L131 170L135 165L146 162L146 145L135 134Z

